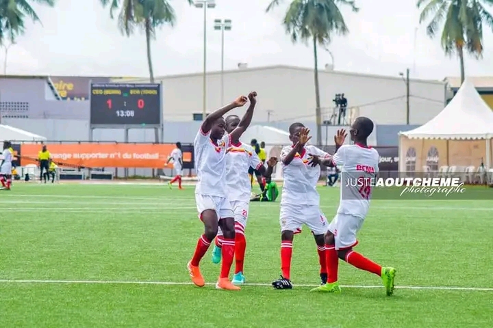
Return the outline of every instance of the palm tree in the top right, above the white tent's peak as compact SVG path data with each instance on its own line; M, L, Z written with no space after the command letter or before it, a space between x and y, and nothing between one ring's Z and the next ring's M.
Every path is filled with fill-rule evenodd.
M446 55L459 57L461 82L464 82L464 50L476 59L483 56L483 23L493 27L493 16L485 10L483 4L492 5L490 0L418 0L422 8L419 22L433 18L427 25L427 34L433 38L443 23L442 48ZM426 4L426 5L425 5ZM423 8L424 7L424 8Z

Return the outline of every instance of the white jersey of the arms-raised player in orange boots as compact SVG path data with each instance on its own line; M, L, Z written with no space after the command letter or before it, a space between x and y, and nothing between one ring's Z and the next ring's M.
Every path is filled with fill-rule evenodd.
M194 161L197 164L195 193L227 198L226 151L229 143L227 134L214 144L210 131L205 134L202 128L199 129L194 141Z

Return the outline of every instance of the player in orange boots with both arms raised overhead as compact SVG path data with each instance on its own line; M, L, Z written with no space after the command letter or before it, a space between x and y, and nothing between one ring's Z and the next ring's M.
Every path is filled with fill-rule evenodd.
M244 106L249 99L252 102L256 96L256 92L251 92L249 98L240 96L231 104L207 115L195 137L194 158L197 163L195 201L199 217L204 224L204 233L197 242L192 260L188 262L188 271L192 282L199 287L205 285L199 263L216 237L219 226L223 231L223 263L216 288L240 290L240 287L229 281L235 250L235 224L233 210L227 197L226 152L231 146L231 140L240 139L250 125L253 106L249 106L238 126L229 134L225 133L226 124L223 115L236 107Z

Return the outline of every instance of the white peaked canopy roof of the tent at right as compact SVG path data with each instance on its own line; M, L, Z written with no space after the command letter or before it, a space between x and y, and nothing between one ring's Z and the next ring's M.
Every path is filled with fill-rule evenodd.
M488 139L493 135L493 111L466 79L435 118L399 135L409 139Z

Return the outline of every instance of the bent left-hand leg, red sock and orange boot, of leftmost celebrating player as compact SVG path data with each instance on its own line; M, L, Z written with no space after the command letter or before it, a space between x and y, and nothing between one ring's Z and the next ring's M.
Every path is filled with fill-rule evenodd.
M201 219L204 223L204 233L197 242L197 247L192 260L188 262L188 272L192 278L192 282L199 287L205 286L205 281L199 269L199 264L207 249L214 240L218 231L218 218L215 210L204 210L201 213Z

